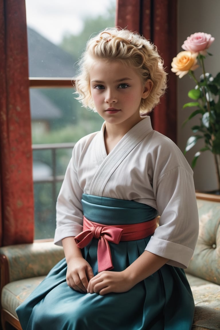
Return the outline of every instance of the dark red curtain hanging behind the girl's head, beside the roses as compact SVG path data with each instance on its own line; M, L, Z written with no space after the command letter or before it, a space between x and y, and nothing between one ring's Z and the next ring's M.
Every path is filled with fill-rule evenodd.
M117 0L116 25L137 31L151 40L167 67L168 89L161 103L151 113L153 128L176 143L176 77L170 75L176 54L176 0Z

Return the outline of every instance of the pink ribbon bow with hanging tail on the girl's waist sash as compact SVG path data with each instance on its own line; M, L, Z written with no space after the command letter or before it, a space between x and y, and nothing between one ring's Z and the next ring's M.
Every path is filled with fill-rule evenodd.
M83 231L75 237L79 248L84 248L94 238L98 242L98 272L113 269L111 251L108 242L118 244L121 239L123 229L111 226L105 226L89 221L83 217Z

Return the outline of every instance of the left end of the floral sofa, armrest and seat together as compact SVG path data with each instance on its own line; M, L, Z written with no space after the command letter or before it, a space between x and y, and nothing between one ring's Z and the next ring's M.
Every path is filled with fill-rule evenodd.
M10 321L13 325L19 324L16 308L64 258L64 251L53 242L35 242L2 247L0 257L1 323L6 329L6 323ZM20 326L17 329L21 329Z

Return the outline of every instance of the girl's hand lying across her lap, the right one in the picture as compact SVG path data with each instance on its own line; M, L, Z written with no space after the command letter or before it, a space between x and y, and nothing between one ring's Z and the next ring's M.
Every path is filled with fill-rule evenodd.
M94 276L90 281L87 288L88 293L98 293L101 296L110 292L126 292L133 287L125 273L103 271Z

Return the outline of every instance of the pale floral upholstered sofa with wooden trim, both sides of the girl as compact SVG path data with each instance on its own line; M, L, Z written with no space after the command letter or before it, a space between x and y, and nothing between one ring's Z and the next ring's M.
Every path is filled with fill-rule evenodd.
M195 300L192 330L220 330L220 196L197 193L197 204L199 238L186 270ZM22 330L16 307L63 257L52 241L0 248L3 330Z

